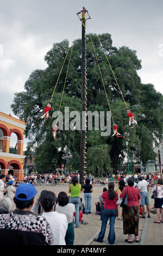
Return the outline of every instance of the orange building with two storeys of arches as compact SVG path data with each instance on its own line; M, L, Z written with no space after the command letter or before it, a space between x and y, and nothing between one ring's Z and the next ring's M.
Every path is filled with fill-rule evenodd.
M1 174L8 174L9 166L12 166L15 176L23 180L24 170L23 161L26 156L23 155L24 139L24 120L11 117L11 115L0 112L0 166ZM9 153L10 137L14 132L17 135L16 154Z

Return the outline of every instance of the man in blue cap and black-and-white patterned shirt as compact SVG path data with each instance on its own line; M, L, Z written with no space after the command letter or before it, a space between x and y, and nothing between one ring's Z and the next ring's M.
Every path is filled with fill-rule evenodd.
M20 184L15 193L16 209L0 215L0 245L50 245L53 234L43 216L33 215L30 209L37 193L35 186Z

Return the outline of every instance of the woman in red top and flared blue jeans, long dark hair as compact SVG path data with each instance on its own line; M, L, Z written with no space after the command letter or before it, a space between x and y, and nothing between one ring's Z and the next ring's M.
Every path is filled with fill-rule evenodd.
M108 235L108 241L110 245L113 245L116 239L115 236L115 218L117 215L117 200L118 193L114 191L114 183L109 182L108 191L103 192L102 202L104 202L104 212L102 219L101 231L98 234L98 237L93 239L96 242L103 242L106 225L110 218L110 230Z

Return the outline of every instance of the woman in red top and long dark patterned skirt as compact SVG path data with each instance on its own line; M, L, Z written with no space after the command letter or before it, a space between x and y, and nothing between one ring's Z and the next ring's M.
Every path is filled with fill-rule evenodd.
M128 196L128 205L122 208L123 216L123 234L128 234L128 239L125 241L132 243L132 234L135 235L135 241L139 242L139 208L141 202L140 191L134 187L134 179L129 178L128 186L125 186L120 194L120 198L124 199Z

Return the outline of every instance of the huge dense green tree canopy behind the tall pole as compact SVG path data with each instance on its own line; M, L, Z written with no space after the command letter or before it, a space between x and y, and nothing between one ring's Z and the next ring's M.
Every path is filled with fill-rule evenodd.
M67 117L65 107L69 107L70 113L78 111L82 116L81 46L81 39L73 42L73 51L65 82L72 46L69 46L66 39L53 44L45 56L48 67L45 70L34 70L30 74L24 84L24 92L15 93L14 102L11 105L14 114L26 121L25 136L29 139L28 150L35 151L36 168L40 172L45 169L46 171L50 170L54 167L54 163L58 166L66 163L68 170L79 170L80 130L76 129L74 124L74 126L72 125L74 129L72 127L72 129L63 129L60 132L62 138L60 141L54 141L52 136L54 118L48 119L42 127L39 127L37 119L51 99L57 81L49 115L59 110L65 83L60 109L63 120ZM137 75L137 70L141 69L141 60L137 58L136 51L127 46L120 48L112 46L109 33L98 36L86 34L86 59L87 111L97 111L98 113L110 111L103 87L104 82L111 113L118 125L118 132L126 136L129 142L130 162L142 161L145 163L149 159L155 159L153 146L162 139L163 98L162 94L156 92L153 84L141 83L141 78ZM65 65L62 68L64 61ZM115 77L120 88L117 86ZM129 130L126 104L134 114L139 125L138 128L134 127ZM71 120L73 117L70 117L70 122ZM63 125L65 124L63 123ZM101 175L116 170L125 163L126 139L111 137L112 133L112 120L110 136L102 137L101 131L96 131L96 129L87 131L87 172Z

